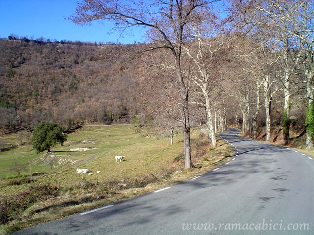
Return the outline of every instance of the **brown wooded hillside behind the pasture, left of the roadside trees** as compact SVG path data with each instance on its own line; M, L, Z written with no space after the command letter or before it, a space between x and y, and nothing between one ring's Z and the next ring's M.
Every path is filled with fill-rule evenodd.
M141 47L1 39L1 127L127 121Z

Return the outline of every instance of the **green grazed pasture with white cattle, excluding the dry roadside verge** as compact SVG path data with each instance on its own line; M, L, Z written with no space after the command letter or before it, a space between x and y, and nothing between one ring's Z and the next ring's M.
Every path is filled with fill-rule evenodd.
M7 139L2 137L2 140L10 139L12 142L15 135L17 134L10 135L6 137ZM55 175L57 171L57 176L63 179L63 184L77 184L81 175L76 174L76 168L89 169L94 174L88 178L95 181L118 179L121 176L134 178L143 173L170 167L173 160L182 152L183 143L180 141L181 135L174 138L173 145L169 144L167 138L146 138L134 133L132 126L84 126L77 132L69 134L68 141L63 146L52 148L57 158L52 171L49 165L40 160L45 152L36 154L31 145L24 144L0 152L0 179L17 176L16 172L9 170L10 166L14 165L14 158L19 163L26 164L26 171L22 171L22 175L30 175L30 172L48 173L40 177L39 181L49 181L51 175ZM90 150L70 151L77 148ZM94 159L84 163L95 155ZM121 163L116 163L115 155L123 155L126 158ZM66 164L59 165L57 162L60 159ZM67 164L69 160L75 161L76 164ZM96 171L101 173L96 174ZM1 194L3 192L5 190Z

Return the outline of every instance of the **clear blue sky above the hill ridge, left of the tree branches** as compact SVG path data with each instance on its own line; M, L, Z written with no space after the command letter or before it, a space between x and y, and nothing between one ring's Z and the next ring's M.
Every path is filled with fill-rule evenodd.
M143 42L145 30L133 28L120 37L112 30L113 24L93 23L79 26L65 17L75 12L77 0L0 0L0 38L10 34L18 37L82 42Z

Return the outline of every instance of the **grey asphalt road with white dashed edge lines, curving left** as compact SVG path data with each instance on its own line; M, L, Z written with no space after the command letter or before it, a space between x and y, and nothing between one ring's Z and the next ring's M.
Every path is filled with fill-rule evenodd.
M236 134L220 134L232 160L201 177L16 234L313 235L314 160Z

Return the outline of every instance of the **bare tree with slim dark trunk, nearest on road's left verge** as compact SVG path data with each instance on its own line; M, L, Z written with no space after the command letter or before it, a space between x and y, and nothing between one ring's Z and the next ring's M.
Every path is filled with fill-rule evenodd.
M192 166L188 107L189 84L184 79L181 65L182 47L187 36L185 28L198 14L198 9L206 7L212 1L155 0L152 4L148 4L145 1L83 0L78 2L75 14L70 17L77 24L110 20L120 28L136 25L147 27L150 29L149 37L157 43L152 49L167 48L171 51L181 89L185 168Z

